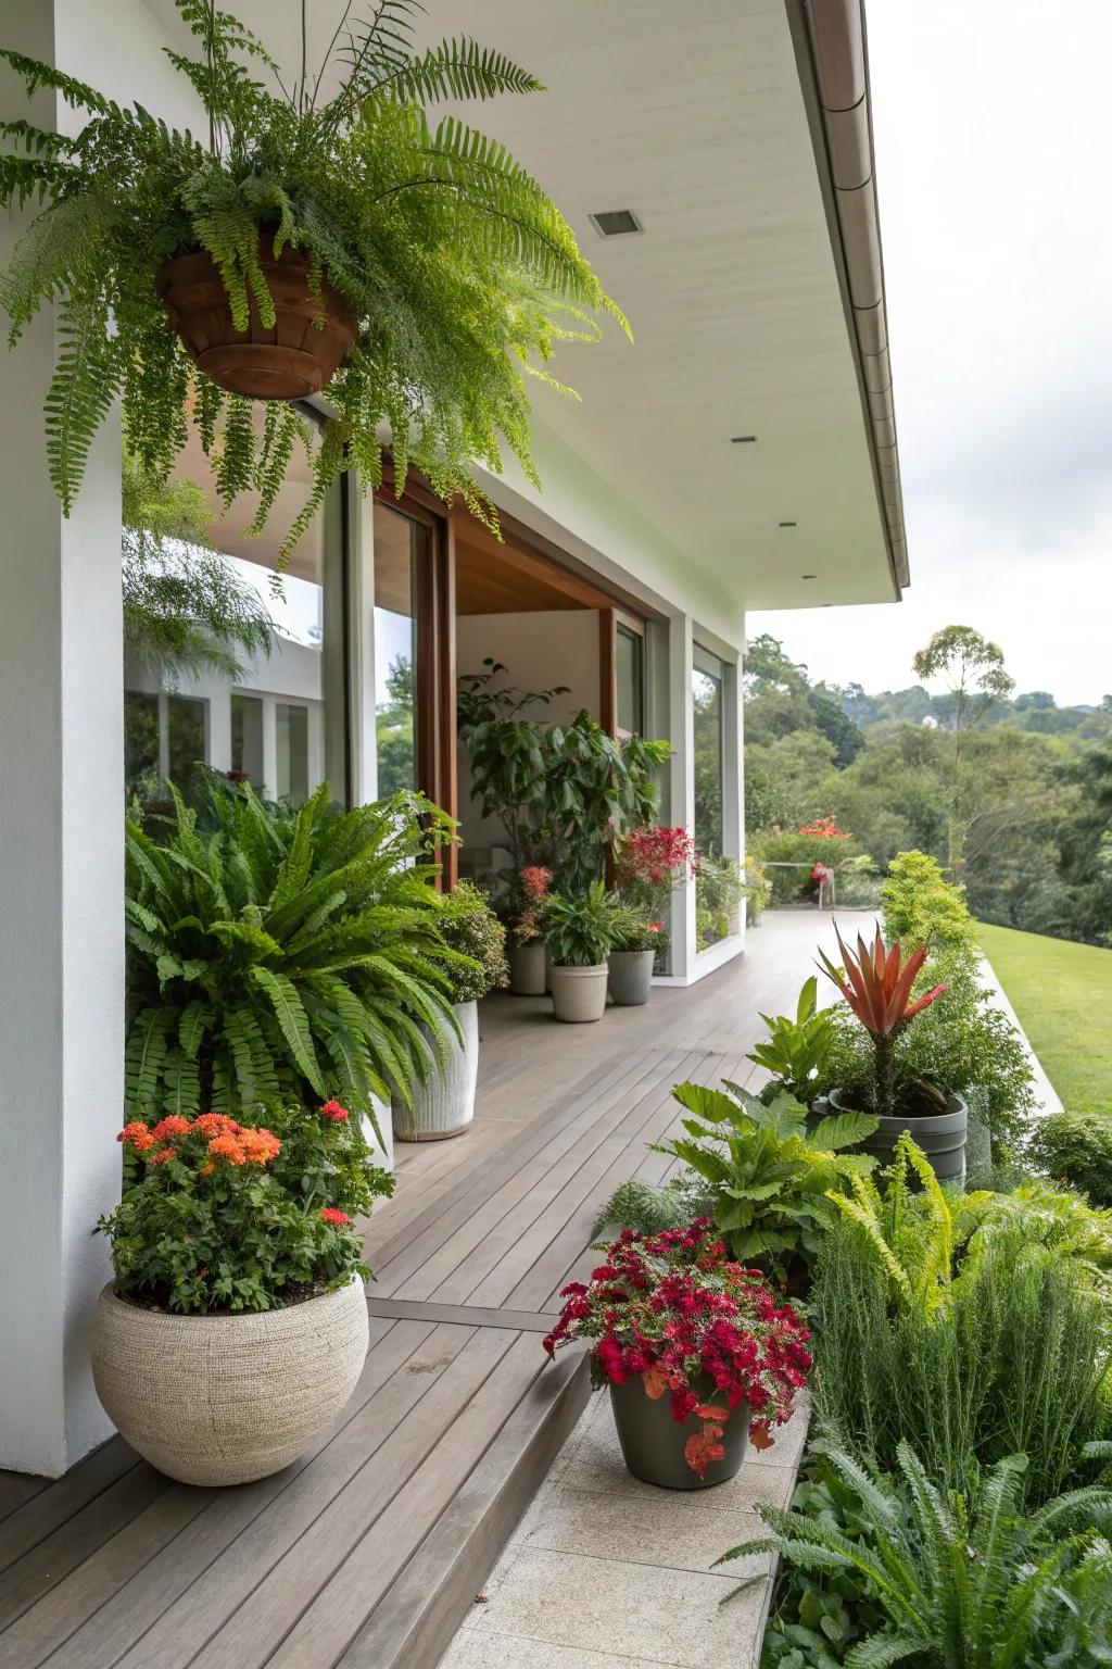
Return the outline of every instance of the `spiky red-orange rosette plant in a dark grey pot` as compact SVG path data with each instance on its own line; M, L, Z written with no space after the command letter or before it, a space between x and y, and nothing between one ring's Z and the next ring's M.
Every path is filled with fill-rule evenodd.
M839 933L839 950L844 971L834 966L825 951L820 950L819 955L850 1013L869 1033L870 1075L860 1085L835 1085L829 1092L832 1110L875 1113L877 1130L864 1148L882 1162L890 1162L895 1143L907 1130L940 1182L960 1182L965 1175L969 1125L965 1102L945 1085L912 1073L900 1060L904 1031L945 991L945 985L935 985L919 996L912 995L915 976L927 960L927 946L920 945L904 961L900 941L894 940L887 946L877 926L872 946L859 933L854 955Z

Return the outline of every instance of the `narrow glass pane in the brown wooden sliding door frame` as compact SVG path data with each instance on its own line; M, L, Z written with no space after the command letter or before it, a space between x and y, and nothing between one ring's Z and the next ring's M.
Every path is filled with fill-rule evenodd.
M375 502L375 736L378 796L420 788L417 751L417 582L430 532Z

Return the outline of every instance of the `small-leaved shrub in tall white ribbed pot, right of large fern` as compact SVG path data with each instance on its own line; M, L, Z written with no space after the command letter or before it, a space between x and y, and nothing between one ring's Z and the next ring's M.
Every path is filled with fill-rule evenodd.
M470 1125L478 1077L478 998L507 980L505 928L470 881L460 881L445 900L440 933L460 958L448 966L458 1035L433 1040L435 1063L408 1103L395 1097L393 1135L400 1142L438 1142L462 1135Z

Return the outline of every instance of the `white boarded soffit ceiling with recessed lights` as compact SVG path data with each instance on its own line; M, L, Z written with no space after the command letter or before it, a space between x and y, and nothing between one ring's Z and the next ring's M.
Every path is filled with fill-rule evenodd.
M297 0L233 10L300 62ZM310 63L342 12L310 0ZM545 83L462 113L550 192L634 329L565 344L582 404L538 386L538 416L745 608L892 601L785 0L425 0L422 43L457 33ZM617 209L644 235L599 237Z

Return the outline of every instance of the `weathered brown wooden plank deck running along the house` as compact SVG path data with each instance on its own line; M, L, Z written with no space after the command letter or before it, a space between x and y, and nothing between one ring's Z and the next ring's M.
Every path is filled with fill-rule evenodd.
M0 1474L2 1669L432 1669L582 1410L580 1364L545 1365L540 1334L600 1205L664 1175L645 1143L677 1082L745 1080L759 1010L794 1003L817 930L769 916L744 958L595 1026L490 998L475 1125L398 1145L368 1233L372 1349L337 1424L230 1490L173 1484L120 1439L57 1482Z

